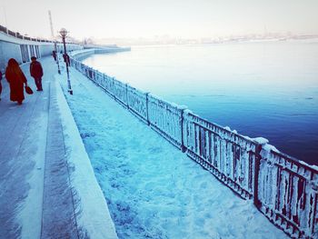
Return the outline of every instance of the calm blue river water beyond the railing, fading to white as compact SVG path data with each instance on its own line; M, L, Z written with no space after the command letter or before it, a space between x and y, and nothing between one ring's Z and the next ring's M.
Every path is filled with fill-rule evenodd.
M318 164L318 42L133 47L85 65Z

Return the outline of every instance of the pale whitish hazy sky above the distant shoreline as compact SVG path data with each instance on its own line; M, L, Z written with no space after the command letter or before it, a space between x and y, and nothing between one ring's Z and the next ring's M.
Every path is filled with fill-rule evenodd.
M65 27L78 39L318 35L317 0L0 0L0 25L50 37L48 10L55 34Z

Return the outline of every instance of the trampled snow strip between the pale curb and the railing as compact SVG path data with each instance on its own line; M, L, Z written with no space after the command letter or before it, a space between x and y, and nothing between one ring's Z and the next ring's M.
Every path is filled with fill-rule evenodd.
M119 238L287 238L253 206L72 69L64 92Z

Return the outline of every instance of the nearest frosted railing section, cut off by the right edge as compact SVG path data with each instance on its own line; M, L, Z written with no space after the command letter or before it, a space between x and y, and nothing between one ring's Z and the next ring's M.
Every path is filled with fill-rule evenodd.
M317 238L318 171L271 148L261 154L260 210L293 237Z

